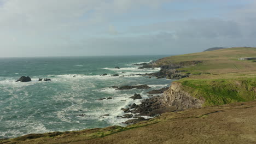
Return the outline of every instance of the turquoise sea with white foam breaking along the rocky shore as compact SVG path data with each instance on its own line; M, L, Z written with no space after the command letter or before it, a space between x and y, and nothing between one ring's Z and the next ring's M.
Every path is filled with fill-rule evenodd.
M0 139L51 131L124 125L120 109L148 98L151 89L170 86L171 80L129 74L153 73L131 64L164 56L0 58ZM114 69L119 66L120 69ZM122 73L125 72L125 73ZM107 73L108 76L100 76ZM120 74L118 77L110 74ZM15 82L20 76L32 82ZM37 82L39 78L51 81ZM149 85L150 89L117 91L110 86ZM109 100L98 98L112 97ZM81 117L79 115L85 114ZM109 114L109 116L102 116Z

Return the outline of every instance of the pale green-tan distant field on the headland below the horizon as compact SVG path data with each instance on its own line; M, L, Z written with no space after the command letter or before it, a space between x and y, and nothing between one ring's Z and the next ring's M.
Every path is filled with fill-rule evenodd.
M158 64L181 64L191 74L226 74L256 72L255 61L239 61L240 57L256 57L255 47L235 47L216 51L190 53L165 57L158 61ZM193 64L194 62L199 62Z

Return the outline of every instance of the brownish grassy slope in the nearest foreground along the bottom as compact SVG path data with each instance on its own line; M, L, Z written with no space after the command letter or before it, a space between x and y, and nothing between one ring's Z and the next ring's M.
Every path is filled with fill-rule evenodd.
M168 112L126 128L31 134L0 143L256 143L256 101Z

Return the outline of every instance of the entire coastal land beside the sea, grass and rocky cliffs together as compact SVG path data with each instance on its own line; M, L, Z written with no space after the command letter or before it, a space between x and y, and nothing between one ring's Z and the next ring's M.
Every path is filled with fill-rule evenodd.
M137 65L142 69L161 68L144 76L176 81L169 88L149 91L158 95L141 104L124 108L136 113L137 118L127 122L135 124L30 134L0 143L255 143L256 62L237 60L255 56L255 47L232 47Z

